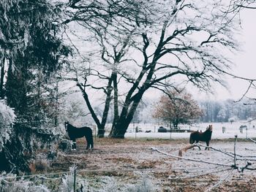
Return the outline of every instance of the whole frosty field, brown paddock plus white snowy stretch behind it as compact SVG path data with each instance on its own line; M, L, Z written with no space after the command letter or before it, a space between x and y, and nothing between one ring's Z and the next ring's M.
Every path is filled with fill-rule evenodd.
M248 129L241 133L241 125ZM135 126L141 132L136 133ZM34 161L34 183L47 186L49 191L61 191L64 175L75 166L78 191L256 191L256 143L246 139L255 140L253 123L213 123L211 150L195 147L181 157L178 151L188 145L189 132L158 133L154 125L135 126L128 129L125 139L95 137L94 150L86 150L82 138L76 151L58 150L51 161L46 161L48 151L39 151ZM206 126L208 123L181 129L204 131ZM69 178L72 191L74 176Z

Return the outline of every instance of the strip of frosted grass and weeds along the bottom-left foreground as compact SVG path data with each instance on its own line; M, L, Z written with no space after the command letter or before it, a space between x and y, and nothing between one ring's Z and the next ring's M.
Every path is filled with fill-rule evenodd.
M11 178L11 179L10 179ZM75 175L75 166L70 167L70 172L64 174L61 179L61 183L55 183L59 185L58 192L73 192L74 191L74 181L75 181L75 191L80 192L153 192L156 191L155 187L147 175L143 175L142 180L139 180L135 185L125 185L118 183L113 177L100 177L97 180L97 187L89 185L85 177L78 177ZM0 191L8 192L50 192L48 186L39 184L37 185L33 181L24 178L17 180L15 175L7 174L0 176ZM56 190L54 190L56 191Z

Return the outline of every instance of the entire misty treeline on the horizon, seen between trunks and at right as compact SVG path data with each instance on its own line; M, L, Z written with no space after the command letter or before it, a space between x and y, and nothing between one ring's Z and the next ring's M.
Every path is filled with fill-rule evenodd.
M249 120L256 118L256 104L250 104L249 100L235 102L231 99L225 101L197 101L203 116L197 122L230 122L236 120ZM152 118L155 110L155 101L146 99L138 106L138 110L132 119L132 123L156 123L156 119ZM101 110L98 110L101 115ZM113 120L113 112L110 110L108 123Z

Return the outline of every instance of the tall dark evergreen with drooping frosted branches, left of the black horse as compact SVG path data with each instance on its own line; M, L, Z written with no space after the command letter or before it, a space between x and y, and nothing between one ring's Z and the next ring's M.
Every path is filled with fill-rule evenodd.
M56 139L55 74L69 54L58 37L60 12L48 0L0 2L0 95L17 115L1 169L28 171L34 149Z

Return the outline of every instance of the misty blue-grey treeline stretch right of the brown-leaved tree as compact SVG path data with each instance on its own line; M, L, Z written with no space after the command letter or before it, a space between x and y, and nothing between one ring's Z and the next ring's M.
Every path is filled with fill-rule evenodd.
M256 118L256 104L250 104L248 100L235 102L227 99L225 101L199 101L198 103L203 110L201 122L229 122Z

